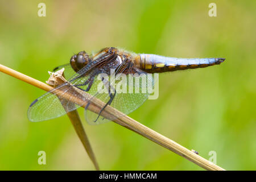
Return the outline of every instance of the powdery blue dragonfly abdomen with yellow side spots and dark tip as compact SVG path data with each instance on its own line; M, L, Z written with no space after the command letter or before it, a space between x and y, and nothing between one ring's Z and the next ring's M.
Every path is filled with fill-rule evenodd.
M204 68L220 64L225 60L224 58L183 59L151 54L141 54L139 56L141 58L140 69L143 69L143 71L146 71L147 73L161 73L183 69Z

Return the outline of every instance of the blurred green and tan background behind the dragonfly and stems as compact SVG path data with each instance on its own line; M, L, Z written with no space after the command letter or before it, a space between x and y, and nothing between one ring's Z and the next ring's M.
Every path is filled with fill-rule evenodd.
M46 17L38 3L46 3ZM217 17L209 17L209 3ZM122 47L172 57L225 57L159 75L159 98L129 116L225 169L256 169L256 1L0 1L0 63L40 81L73 53ZM0 73L0 169L93 170L67 115L32 123L43 90ZM201 170L115 123L90 126L101 169ZM46 151L46 165L38 152Z

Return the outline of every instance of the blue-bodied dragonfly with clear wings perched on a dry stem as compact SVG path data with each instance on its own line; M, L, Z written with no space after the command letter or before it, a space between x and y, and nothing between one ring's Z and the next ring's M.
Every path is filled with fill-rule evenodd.
M137 54L114 47L106 47L90 55L81 51L73 55L68 64L53 69L53 71L57 71L64 68L64 76L67 81L33 101L28 108L28 119L32 122L38 122L60 117L82 106L76 101L82 100L87 103L84 115L88 123L94 125L111 121L115 118L105 118L101 115L107 106L112 106L127 115L148 99L152 92L144 88L150 85L154 89L155 81L154 77L149 75L205 68L221 64L224 61L225 58L221 57L181 59L154 54ZM111 81L109 79L111 74L117 79ZM123 76L128 77L130 75L139 78L139 82L137 84L134 81L127 83L129 79L125 80ZM143 80L147 84L143 84ZM98 85L100 84L100 88L105 88L103 89L105 92L99 90ZM118 84L122 84L121 90L126 91L128 86L131 86L131 92L118 92L115 87ZM144 92L134 92L136 89L137 91L144 89ZM72 99L67 100L67 94ZM92 104L92 98L104 102L104 105L100 107L100 113L93 113L88 109L88 106ZM65 104L65 108L63 104ZM117 115L117 117L121 116Z

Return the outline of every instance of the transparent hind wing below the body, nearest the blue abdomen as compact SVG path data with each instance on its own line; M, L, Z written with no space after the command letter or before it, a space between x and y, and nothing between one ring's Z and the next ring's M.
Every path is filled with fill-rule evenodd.
M112 93L115 93L115 96L110 103L110 106L121 111L121 113L125 115L141 106L152 93L152 90L154 90L154 78L151 74L147 74L137 68L133 68L133 73L137 74L127 75L126 73L126 75L117 75L115 77L115 81L110 82L110 85L112 85L110 90L113 92L113 89L115 88L115 92ZM114 88L113 85L115 85ZM105 86L104 93L102 93L102 90L101 92L96 92L93 98L97 98L102 102L108 103L112 99L113 95L112 97L110 96L106 87L107 86ZM89 101L89 103L90 102L92 101ZM101 109L103 109L103 107ZM104 110L106 110L106 108ZM109 118L104 118L88 109L85 109L85 119L90 125L97 125L111 120L113 121L114 119L123 116L123 114L120 114L117 110L114 110L114 115L111 115Z

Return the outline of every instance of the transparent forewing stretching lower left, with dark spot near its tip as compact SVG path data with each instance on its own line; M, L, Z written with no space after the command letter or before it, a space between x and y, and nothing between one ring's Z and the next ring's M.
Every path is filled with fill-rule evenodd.
M69 82L65 82L37 98L28 108L28 119L33 122L45 121L60 117L82 106L84 102L90 99L88 94L83 90L86 90L90 83L93 83L92 78L97 71L97 69L91 68L105 59L108 59L109 56L111 55L108 54L107 56L102 56L92 61L92 63L75 73L75 75L69 79ZM87 81L88 79L89 81ZM94 90L89 90L89 93L95 94ZM68 100L66 100L66 98L68 98ZM79 101L83 102L80 102L79 105L75 104Z

